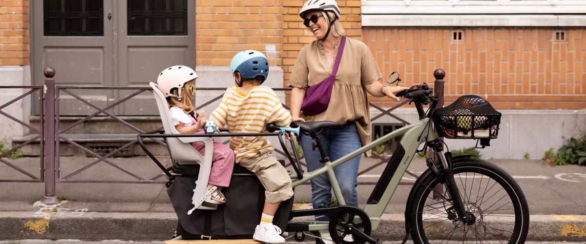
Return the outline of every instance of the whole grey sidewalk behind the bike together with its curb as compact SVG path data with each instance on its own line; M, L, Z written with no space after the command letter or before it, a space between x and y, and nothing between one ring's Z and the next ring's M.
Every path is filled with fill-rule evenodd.
M61 176L86 166L91 157L62 157ZM160 171L146 157L110 159L133 173L151 178ZM34 173L39 159L11 160ZM551 167L537 160L489 160L505 169L521 186L531 217L528 240L586 240L586 167ZM360 170L376 163L363 158ZM409 170L421 174L427 167L415 158ZM376 183L384 164L360 176L360 182ZM15 178L16 177L16 178ZM21 179L19 172L0 164L0 179ZM128 180L130 176L98 163L76 180ZM404 183L414 178L405 176ZM359 185L359 204L366 203L373 185ZM381 240L402 240L407 195L411 185L401 185L389 202L383 222L374 233ZM0 183L0 239L165 240L176 227L176 216L165 187L156 184L57 183L57 195L67 198L55 210L42 211L39 201L43 183ZM295 201L311 201L309 185L295 190ZM59 212L52 212L59 211Z

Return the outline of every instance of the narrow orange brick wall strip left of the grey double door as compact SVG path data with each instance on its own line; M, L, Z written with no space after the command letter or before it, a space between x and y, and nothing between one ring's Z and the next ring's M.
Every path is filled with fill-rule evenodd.
M0 66L29 64L29 1L0 0Z

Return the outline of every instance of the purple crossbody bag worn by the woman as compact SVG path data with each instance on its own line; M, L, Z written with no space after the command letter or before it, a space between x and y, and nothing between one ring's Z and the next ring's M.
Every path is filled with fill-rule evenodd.
M338 73L338 67L340 66L340 60L342 59L345 44L346 37L342 36L340 47L336 54L336 62L333 65L332 75L325 78L321 83L307 88L305 91L305 98L301 104L301 111L303 111L305 115L311 116L320 114L328 109L329 101L332 98L333 82L336 80L336 73Z

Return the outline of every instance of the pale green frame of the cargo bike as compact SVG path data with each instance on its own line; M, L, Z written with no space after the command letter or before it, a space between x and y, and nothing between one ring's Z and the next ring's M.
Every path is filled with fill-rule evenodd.
M391 156L391 159L387 164L386 169L384 169L379 182L374 187L366 207L363 208L364 212L366 212L370 218L372 229L374 231L378 228L380 224L380 216L383 215L384 209L387 207L387 204L389 204L391 197L393 197L393 194L397 189L401 178L403 178L403 175L407 171L409 164L411 164L411 160L413 160L418 147L426 140L431 141L438 138L438 134L435 132L434 126L432 125L429 118L421 119L419 122L414 123L413 125L404 126L403 128L384 135L374 142L360 147L354 152L349 153L338 160L333 162L326 161L323 163L321 168L304 174L304 177L301 180L298 180L297 178L292 180L293 187L297 187L298 185L301 185L302 183L305 183L312 178L319 176L320 174L327 173L330 184L332 185L333 193L336 196L339 205L345 205L346 201L342 196L342 191L340 190L340 186L338 184L338 180L336 180L333 169L340 166L340 164L346 163L350 159L353 159L354 157L357 157L360 154L363 154L364 152L399 136L401 136L400 143L393 153L393 156ZM328 222L325 221L312 221L309 224L309 231L321 231L327 229Z

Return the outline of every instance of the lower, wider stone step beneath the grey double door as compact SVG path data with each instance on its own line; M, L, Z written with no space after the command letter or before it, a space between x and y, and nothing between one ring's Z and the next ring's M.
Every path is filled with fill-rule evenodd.
M28 140L35 138L38 134L30 134L21 137L12 138L12 147L18 146L21 143L27 142ZM127 145L128 143L137 140L137 134L63 134L64 138L70 139L71 141L85 147L91 152L97 153L100 156L113 152L114 150ZM94 157L94 155L80 149L77 146L67 142L66 140L59 140L59 154L60 156L75 156L75 155L86 155ZM145 139L145 146L155 155L168 155L168 151L165 146L159 145L154 140ZM20 149L25 156L39 156L40 154L40 139L36 139L26 146ZM146 155L144 150L138 142L131 146L122 149L120 152L115 153L112 157L132 157L132 156L143 156Z

